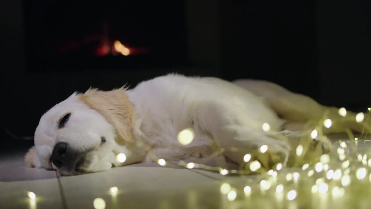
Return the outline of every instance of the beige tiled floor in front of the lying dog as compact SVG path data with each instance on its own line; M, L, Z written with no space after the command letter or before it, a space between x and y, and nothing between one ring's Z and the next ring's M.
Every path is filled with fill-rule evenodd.
M345 138L333 137L334 141ZM366 152L368 147L368 141L360 141L357 152ZM270 199L245 198L230 202L220 193L223 183L244 187L259 176L223 176L205 170L188 170L177 163L137 164L59 178L55 171L26 168L21 154L9 155L0 160L0 208L94 208L96 198L104 200L105 208L276 208ZM210 160L205 164L217 163ZM227 166L234 167L233 164ZM118 192L110 193L111 187L117 187ZM35 193L36 199L31 200L27 192Z

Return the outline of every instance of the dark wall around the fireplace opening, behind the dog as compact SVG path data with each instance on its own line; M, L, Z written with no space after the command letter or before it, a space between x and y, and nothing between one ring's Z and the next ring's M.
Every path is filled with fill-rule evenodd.
M32 136L40 116L75 90L135 86L174 71L270 80L326 105L353 110L371 104L371 5L366 0L187 0L190 66L107 67L89 73L26 70L22 2L0 3L0 123L16 135ZM1 141L9 141L2 129L0 134Z

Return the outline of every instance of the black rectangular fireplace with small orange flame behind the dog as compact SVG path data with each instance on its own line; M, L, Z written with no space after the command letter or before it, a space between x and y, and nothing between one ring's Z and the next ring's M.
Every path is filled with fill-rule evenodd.
M27 71L187 65L183 0L24 1Z

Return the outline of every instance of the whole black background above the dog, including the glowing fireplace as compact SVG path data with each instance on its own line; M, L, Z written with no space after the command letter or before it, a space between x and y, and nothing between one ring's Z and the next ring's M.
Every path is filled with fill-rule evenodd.
M371 105L369 1L14 0L0 8L0 123L17 136L33 136L40 116L74 91L173 72L269 80L354 111ZM1 154L32 145L0 136Z

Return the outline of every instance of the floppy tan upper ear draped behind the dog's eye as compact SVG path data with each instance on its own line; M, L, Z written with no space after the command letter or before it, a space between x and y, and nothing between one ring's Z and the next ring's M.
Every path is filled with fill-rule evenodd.
M118 143L122 145L133 141L134 107L125 90L125 87L112 91L89 89L85 94L78 95L82 102L101 113L114 126L117 136L122 140Z

